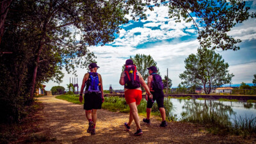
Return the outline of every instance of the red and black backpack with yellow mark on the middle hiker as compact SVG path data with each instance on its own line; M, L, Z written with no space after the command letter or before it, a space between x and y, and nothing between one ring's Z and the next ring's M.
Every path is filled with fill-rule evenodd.
M124 88L135 89L140 88L140 77L137 74L136 65L125 65Z

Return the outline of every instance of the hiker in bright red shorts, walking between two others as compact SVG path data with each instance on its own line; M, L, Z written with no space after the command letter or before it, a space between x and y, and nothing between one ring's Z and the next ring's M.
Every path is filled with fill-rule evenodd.
M148 95L150 95L150 97L153 97L153 95L150 93L147 84L145 83L140 72L137 71L136 65L134 65L132 60L125 61L125 70L121 74L119 83L122 86L124 85L125 100L130 107L129 122L124 123L125 129L126 131L130 131L130 125L132 123L132 120L134 120L137 126L137 131L134 133L134 135L140 136L141 134L143 134L140 127L140 119L137 109L137 106L140 104L140 101L142 99L140 84L145 88L146 92L148 93Z

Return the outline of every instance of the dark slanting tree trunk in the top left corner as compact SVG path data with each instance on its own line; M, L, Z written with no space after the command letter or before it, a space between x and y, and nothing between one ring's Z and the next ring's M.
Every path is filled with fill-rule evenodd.
M1 40L2 37L4 35L4 22L6 19L6 15L8 13L9 10L9 6L12 3L13 0L6 0L6 1L0 1L0 44L1 44Z

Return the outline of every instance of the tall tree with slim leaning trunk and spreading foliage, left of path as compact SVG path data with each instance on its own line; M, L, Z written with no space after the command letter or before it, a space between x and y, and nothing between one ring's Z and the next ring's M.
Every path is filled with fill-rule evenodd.
M68 72L76 72L75 67L86 67L94 58L87 47L113 41L119 26L128 22L124 17L127 11L123 8L123 1L14 1L12 9L16 11L10 13L9 19L15 19L12 17L14 14L22 15L15 25L31 31L36 44L32 47L35 54L32 61L35 63L30 84L31 98L38 67L47 61L42 54L48 51L60 54L60 65L65 66ZM13 24L9 22L8 25Z

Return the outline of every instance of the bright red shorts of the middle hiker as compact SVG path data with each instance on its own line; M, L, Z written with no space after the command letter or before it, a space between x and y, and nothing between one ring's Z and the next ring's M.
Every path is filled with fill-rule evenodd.
M140 101L142 99L142 92L141 90L126 90L124 92L124 97L127 104L131 104L132 102L136 102L136 105L140 104Z

